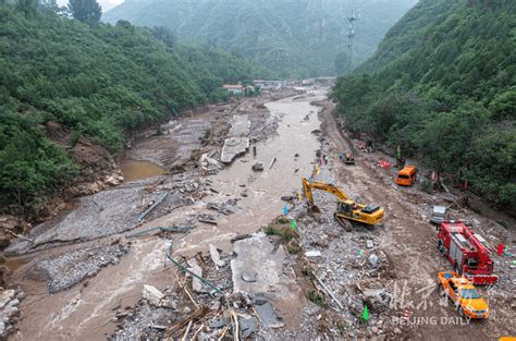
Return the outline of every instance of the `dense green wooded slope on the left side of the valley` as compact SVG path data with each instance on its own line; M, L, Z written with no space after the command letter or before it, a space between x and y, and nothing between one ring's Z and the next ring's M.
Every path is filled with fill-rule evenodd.
M218 49L181 45L164 28L0 5L1 210L23 211L77 174L66 148L81 136L118 153L125 132L220 100L224 82L257 76L267 74ZM50 121L70 133L67 143L46 138Z

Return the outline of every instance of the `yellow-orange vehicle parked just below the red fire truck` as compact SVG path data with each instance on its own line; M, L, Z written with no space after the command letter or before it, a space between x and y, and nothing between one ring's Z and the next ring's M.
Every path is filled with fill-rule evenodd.
M439 272L439 284L443 293L457 307L458 315L470 318L488 318L489 306L472 281L457 272Z

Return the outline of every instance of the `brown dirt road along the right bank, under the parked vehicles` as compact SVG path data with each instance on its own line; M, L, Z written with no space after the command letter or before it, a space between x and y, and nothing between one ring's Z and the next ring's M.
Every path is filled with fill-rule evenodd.
M322 112L324 136L337 160L340 150L349 149L353 143L339 130L331 114L331 105L325 102ZM504 334L515 334L514 269L499 267L501 283L488 293L491 303L491 318L486 321L457 320L452 305L442 306L435 288L437 272L453 270L438 253L435 229L428 222L432 205L440 204L439 196L429 195L416 188L402 188L394 184L393 173L377 167L381 155L358 154L357 165L346 167L336 163L335 179L352 194L366 203L379 203L385 208L385 222L380 231L380 248L390 260L395 282L400 290L393 321L403 321L408 315L408 326L400 326L404 336L417 340L489 340ZM491 231L491 242L514 241L514 230L505 230L499 223L463 209L453 211L457 217L476 221L483 231ZM475 229L475 227L474 227ZM497 257L496 257L497 258ZM497 258L500 265L505 265ZM405 287L406 285L406 287ZM402 294L402 289L406 290Z

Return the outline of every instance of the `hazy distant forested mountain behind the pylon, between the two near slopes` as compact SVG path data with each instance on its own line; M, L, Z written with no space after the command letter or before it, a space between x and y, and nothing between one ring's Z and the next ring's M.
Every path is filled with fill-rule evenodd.
M179 37L218 45L266 65L278 76L342 74L348 22L355 22L353 66L371 56L385 32L416 0L126 0L105 14L168 26ZM336 61L336 64L335 64Z

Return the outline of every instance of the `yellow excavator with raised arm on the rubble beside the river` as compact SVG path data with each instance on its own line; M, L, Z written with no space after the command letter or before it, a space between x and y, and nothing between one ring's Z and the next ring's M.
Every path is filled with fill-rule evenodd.
M333 217L346 231L353 230L352 221L361 222L369 230L372 230L376 223L383 221L383 208L377 204L357 204L343 190L325 182L309 182L305 178L302 179L302 182L305 196L314 211L320 210L314 204L311 190L329 192L339 198L336 211L333 214Z

